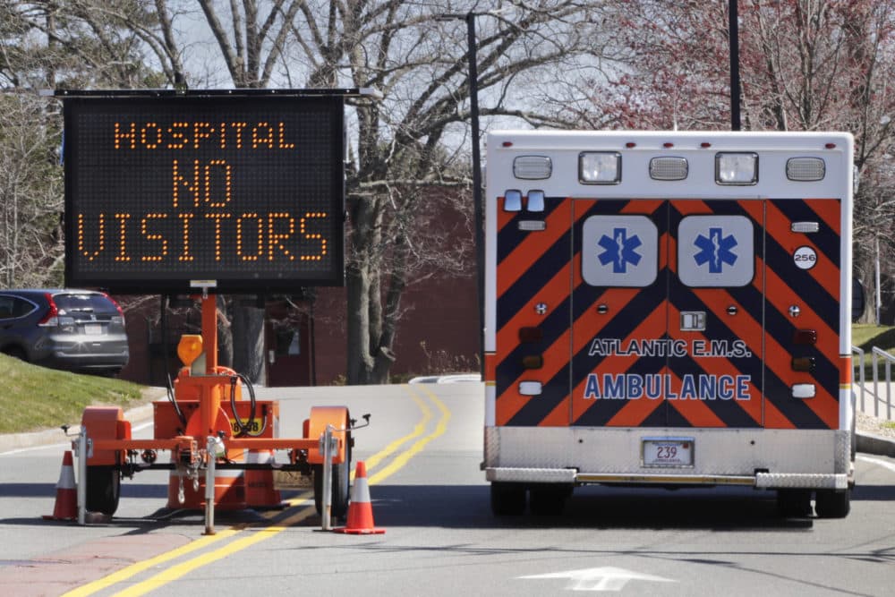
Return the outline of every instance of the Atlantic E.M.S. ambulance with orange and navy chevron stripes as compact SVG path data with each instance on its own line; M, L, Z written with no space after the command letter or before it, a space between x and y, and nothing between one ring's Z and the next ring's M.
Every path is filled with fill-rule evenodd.
M852 152L844 132L490 132L495 514L597 483L848 515Z

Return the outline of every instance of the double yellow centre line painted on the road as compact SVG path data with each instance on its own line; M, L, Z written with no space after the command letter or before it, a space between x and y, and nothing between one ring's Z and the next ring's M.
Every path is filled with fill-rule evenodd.
M432 439L438 438L447 431L447 422L450 420L451 414L450 411L447 410L447 406L439 400L439 397L422 384L404 386L404 388L410 397L413 398L413 402L419 407L420 412L422 413L422 418L416 423L413 427L413 431L409 434L392 441L388 446L382 448L379 452L364 461L367 470L370 471L391 458L388 465L382 466L382 468L376 470L375 473L372 473L369 476L368 483L371 485L383 482L388 479L388 477L401 470L413 456L422 452L422 449L425 448ZM439 412L438 420L435 423L435 429L433 431L428 431L432 420L436 416L430 403L431 405L434 405ZM87 597L88 595L103 591L115 584L128 581L134 576L149 569L163 566L168 562L183 559L184 556L188 556L194 552L200 552L199 555L196 555L191 559L186 559L174 566L166 567L161 572L136 584L132 584L119 593L115 593L116 596L121 597L144 595L168 583L174 582L193 570L208 566L212 562L224 559L237 551L245 550L256 543L270 539L278 533L285 531L290 526L297 525L303 520L317 515L311 492L304 492L298 497L288 500L288 503L289 507L286 509L285 514L282 512L268 513L270 514L268 518L272 522L270 525L233 526L224 531L220 531L217 534L203 536L200 539L183 545L183 547L166 551L154 558L124 567L121 570L114 572L111 575L104 576L90 584L84 584L69 593L65 593L64 597ZM293 512L295 508L298 508L298 510ZM216 543L225 542L225 540L231 541L226 542L225 545L222 545L215 550L207 551L210 546Z

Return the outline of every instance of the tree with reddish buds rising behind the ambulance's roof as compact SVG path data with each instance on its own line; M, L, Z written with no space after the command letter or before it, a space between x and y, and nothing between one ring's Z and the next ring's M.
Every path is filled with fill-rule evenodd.
M889 191L895 2L741 0L738 6L744 127L855 134L862 179L855 264L868 282L876 240L883 262L891 262L886 255L895 243ZM623 68L593 82L592 114L619 127L727 128L728 7L726 0L618 3L611 15L615 44L630 55Z

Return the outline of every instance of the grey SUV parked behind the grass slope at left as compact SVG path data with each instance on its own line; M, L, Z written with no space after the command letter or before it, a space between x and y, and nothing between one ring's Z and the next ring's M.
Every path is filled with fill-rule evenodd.
M92 290L0 290L0 352L69 371L116 374L130 353L124 313Z

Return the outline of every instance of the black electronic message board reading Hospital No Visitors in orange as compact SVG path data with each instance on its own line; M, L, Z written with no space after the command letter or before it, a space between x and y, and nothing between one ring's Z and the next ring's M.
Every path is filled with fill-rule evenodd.
M343 283L343 97L76 96L64 116L67 286Z

